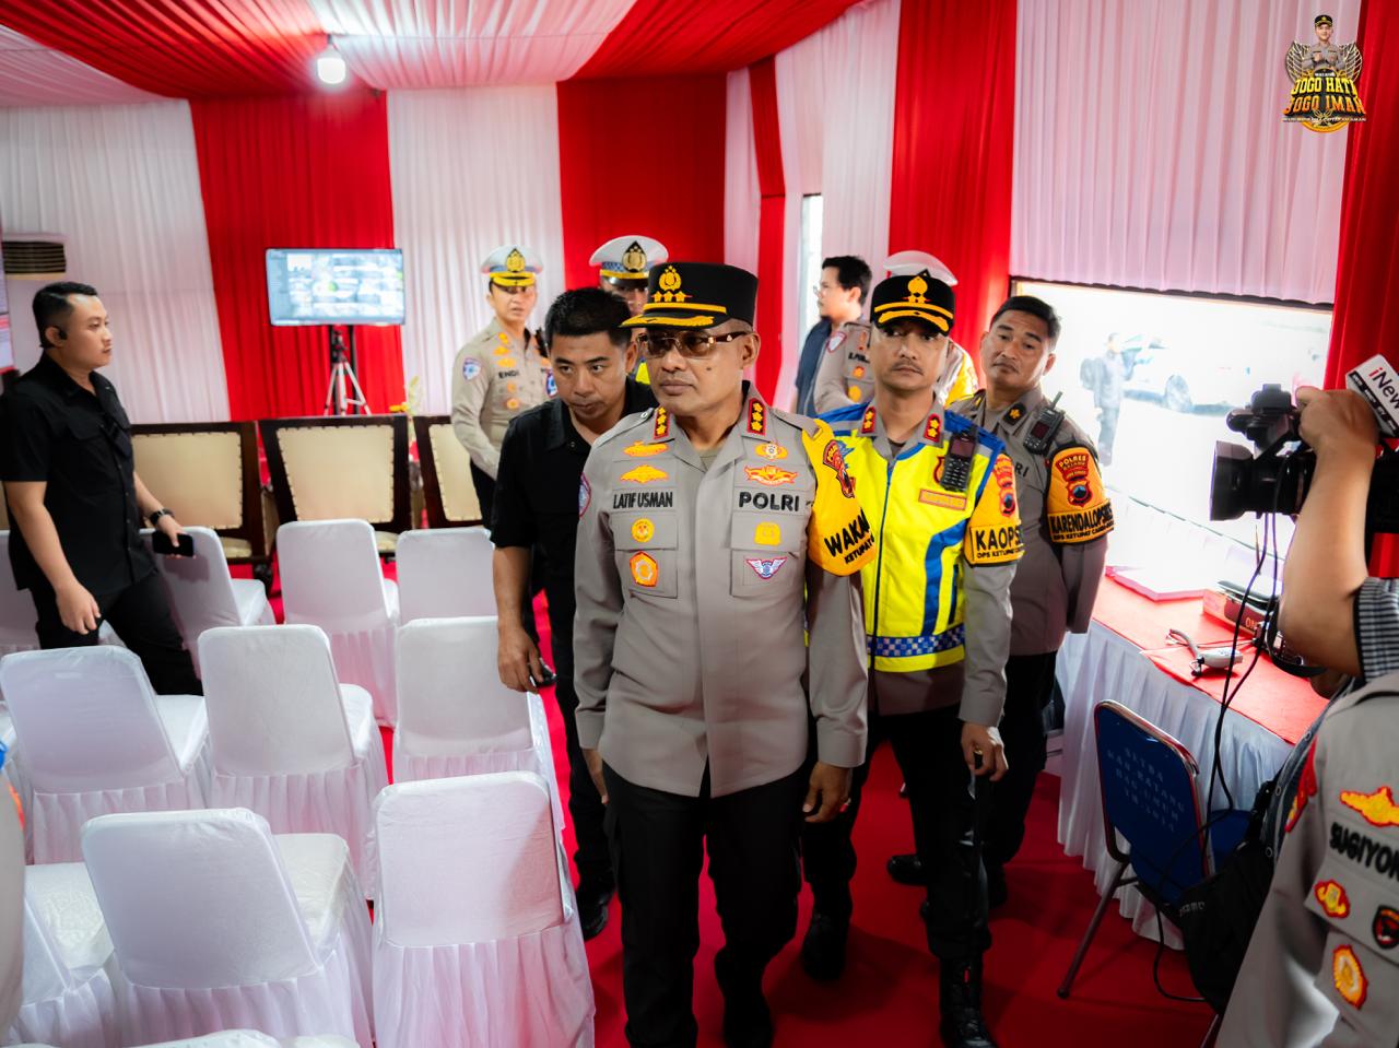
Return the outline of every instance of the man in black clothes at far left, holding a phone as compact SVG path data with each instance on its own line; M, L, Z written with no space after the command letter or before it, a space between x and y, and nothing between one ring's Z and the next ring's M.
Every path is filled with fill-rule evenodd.
M203 690L171 618L141 519L180 526L136 476L132 423L116 388L112 330L97 291L49 284L34 297L43 355L0 400L0 480L10 565L38 613L42 648L97 644L106 618L161 694Z

